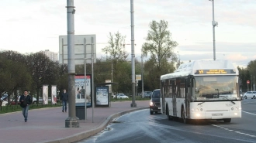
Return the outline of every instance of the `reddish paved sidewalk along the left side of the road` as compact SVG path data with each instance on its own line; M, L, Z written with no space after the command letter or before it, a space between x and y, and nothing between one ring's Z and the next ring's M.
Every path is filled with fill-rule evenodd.
M92 123L92 108L88 108L87 121L80 120L80 128L65 128L68 113L61 107L29 110L28 121L24 122L22 111L0 114L0 142L4 143L69 143L88 138L106 128L113 118L130 111L149 107L149 100L112 102L111 107L95 107Z

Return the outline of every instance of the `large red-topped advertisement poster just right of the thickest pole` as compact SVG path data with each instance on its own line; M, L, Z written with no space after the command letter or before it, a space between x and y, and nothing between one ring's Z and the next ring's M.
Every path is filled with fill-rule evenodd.
M85 106L85 98L86 98L86 106L92 106L92 95L91 95L91 75L77 75L74 77L75 82L75 104Z

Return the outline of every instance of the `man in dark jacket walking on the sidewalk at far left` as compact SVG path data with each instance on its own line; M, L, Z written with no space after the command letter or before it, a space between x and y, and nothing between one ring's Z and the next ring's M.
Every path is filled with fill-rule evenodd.
M27 90L24 90L24 94L20 96L19 103L20 103L20 106L22 107L22 114L26 122L28 120L29 104L32 103L32 98L30 97Z

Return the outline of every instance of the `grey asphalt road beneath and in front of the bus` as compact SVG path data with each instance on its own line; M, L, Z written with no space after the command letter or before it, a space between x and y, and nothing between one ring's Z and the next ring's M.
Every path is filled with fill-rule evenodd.
M242 118L223 121L168 121L164 114L135 111L112 121L99 134L78 143L256 142L256 100L242 101Z

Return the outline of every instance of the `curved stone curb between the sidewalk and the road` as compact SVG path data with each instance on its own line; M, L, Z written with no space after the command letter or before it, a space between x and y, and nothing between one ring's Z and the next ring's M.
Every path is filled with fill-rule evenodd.
M116 114L112 114L109 117L106 118L106 121L104 121L98 128L94 128L92 130L88 130L88 131L84 131L78 134L73 134L71 136L68 136L67 138L58 138L57 140L54 141L43 141L40 143L71 143L74 141L81 141L85 138L88 138L94 134L99 133L100 131L102 131L104 128L106 128L106 126L109 124L110 121L112 121L112 119L122 116L123 114L127 114L133 111L140 111L143 109L147 109L148 107L140 107L140 108L135 108L135 109L131 109L128 111L122 111Z

